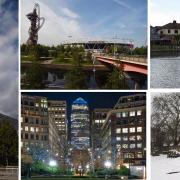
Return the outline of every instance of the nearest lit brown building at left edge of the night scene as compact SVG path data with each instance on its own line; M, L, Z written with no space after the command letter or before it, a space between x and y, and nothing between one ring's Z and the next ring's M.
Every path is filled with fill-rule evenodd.
M48 101L45 97L21 96L21 147L44 149L48 157L57 158L63 147L59 130L48 114ZM47 159L48 161L48 159Z

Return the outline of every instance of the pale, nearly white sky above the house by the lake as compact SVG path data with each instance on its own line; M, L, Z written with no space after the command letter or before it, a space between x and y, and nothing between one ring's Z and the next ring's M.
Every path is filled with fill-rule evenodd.
M161 26L176 20L180 23L180 0L151 0L150 24Z

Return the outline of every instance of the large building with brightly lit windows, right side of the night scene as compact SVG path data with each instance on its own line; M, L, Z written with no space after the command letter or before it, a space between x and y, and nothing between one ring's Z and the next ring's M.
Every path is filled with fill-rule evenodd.
M103 160L121 165L146 163L146 95L121 97L102 127Z

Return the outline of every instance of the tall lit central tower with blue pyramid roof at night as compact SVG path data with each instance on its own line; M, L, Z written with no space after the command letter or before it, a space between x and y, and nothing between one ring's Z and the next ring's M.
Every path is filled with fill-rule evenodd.
M72 104L71 145L79 150L90 148L89 108L82 98L76 99Z

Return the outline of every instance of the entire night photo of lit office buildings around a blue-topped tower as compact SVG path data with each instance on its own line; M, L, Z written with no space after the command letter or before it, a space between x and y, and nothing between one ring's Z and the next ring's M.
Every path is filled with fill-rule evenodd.
M21 94L22 178L146 177L146 94Z

